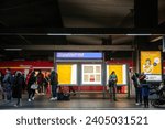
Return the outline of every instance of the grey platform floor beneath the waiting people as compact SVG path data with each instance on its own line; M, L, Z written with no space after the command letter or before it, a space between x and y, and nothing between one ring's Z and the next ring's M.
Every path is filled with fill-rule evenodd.
M144 108L144 106L136 106L134 103L134 99L118 99L118 101L111 101L110 99L89 99L89 98L72 98L70 100L67 101L51 101L48 96L44 95L36 95L35 100L29 103L26 96L23 96L22 99L22 106L20 107L14 107L13 105L15 104L15 99L12 99L11 101L4 101L0 99L0 109L89 109L89 110L95 110L95 109L102 109L102 110L160 110L160 109L165 109L165 106L160 107L160 108L154 108L150 106L150 108Z

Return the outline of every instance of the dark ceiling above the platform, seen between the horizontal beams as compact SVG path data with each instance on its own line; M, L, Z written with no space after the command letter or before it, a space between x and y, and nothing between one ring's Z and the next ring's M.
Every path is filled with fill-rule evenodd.
M158 0L158 23L165 21ZM2 0L0 29L133 28L133 0ZM3 45L132 44L124 35L0 35L1 60L50 58L53 52L7 52Z

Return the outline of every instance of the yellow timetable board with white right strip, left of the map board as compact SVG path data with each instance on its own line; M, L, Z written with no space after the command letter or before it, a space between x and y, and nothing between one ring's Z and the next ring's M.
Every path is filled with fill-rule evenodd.
M76 64L57 64L59 85L77 84Z

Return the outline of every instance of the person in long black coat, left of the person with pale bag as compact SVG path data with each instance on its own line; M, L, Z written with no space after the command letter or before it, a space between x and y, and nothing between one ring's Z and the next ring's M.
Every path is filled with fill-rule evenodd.
M21 72L15 73L14 77L14 84L13 84L13 92L12 92L12 97L18 98L16 104L14 105L15 107L21 106L21 98L22 98L22 87L23 87L23 77L22 77Z

